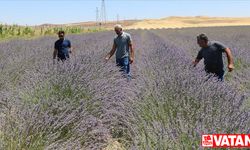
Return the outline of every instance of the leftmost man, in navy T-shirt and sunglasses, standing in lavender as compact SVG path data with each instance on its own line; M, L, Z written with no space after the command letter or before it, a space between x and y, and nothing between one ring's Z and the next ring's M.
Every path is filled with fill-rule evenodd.
M69 58L69 53L72 53L71 50L71 42L68 39L64 38L65 33L64 31L58 32L59 39L55 42L54 46L54 53L53 53L53 59L55 60L56 57L61 61L65 61Z

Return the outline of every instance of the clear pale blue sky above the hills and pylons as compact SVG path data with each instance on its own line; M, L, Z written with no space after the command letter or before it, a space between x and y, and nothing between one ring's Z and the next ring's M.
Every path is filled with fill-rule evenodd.
M96 20L101 0L0 0L0 23L63 24ZM250 17L248 0L105 0L108 21L169 16Z

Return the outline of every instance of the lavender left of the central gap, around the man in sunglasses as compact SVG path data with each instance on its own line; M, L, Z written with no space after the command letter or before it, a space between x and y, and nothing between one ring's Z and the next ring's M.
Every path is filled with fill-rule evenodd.
M53 37L1 43L0 149L105 147L112 138L108 123L115 123L111 112L118 109L113 105L127 85L103 61L112 37L69 36L77 55L56 64Z

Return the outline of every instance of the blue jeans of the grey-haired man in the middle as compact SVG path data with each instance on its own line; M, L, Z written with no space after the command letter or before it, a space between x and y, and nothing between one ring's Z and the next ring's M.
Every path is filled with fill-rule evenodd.
M129 64L129 58L128 57L116 59L116 65L121 68L120 71L124 72L124 74L127 76L128 79L131 78L130 64Z

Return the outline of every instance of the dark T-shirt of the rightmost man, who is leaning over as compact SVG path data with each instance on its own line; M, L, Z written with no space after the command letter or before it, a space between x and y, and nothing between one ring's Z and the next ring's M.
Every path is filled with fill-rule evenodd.
M196 59L204 58L205 70L209 73L224 71L222 53L227 47L218 41L209 41L208 47L201 48Z

